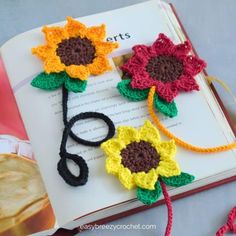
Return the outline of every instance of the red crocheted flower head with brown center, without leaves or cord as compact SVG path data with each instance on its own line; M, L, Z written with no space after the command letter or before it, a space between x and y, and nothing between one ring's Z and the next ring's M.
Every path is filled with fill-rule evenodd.
M151 45L136 45L134 55L121 69L131 78L133 89L156 87L156 93L171 102L179 91L199 90L194 76L205 67L205 61L188 55L189 41L175 45L166 35L159 34Z

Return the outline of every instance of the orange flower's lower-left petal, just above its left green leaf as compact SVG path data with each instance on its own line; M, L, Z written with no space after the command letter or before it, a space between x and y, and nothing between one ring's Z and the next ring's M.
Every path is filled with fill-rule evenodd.
M44 61L44 70L46 73L59 73L61 71L64 71L65 65L61 63L60 58L58 56L51 56L48 57Z

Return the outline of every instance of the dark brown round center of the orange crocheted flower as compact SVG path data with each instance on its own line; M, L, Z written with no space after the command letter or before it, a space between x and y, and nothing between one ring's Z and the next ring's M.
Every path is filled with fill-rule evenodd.
M96 50L89 39L76 37L59 43L56 53L66 66L87 65L93 62Z

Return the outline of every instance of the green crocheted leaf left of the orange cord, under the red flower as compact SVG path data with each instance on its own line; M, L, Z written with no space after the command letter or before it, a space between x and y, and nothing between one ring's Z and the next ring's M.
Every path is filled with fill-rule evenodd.
M117 89L119 93L131 101L142 101L142 100L147 99L149 90L148 89L145 89L145 90L133 89L130 86L130 82L131 82L130 79L124 79L121 82L119 82L117 84Z

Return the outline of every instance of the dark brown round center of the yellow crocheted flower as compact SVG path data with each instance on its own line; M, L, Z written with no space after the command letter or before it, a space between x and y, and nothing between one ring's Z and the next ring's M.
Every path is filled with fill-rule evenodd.
M156 168L160 161L160 155L148 142L133 142L121 151L121 164L131 172L148 172Z

